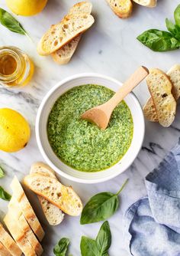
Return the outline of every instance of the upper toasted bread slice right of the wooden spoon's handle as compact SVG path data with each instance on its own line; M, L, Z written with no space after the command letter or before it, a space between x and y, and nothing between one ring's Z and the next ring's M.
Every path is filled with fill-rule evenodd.
M159 123L164 127L170 126L175 119L176 111L171 81L163 71L154 68L150 70L146 83L156 107Z

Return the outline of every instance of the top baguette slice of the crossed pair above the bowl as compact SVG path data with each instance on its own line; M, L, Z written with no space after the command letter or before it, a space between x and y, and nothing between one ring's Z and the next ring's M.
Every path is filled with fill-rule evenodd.
M92 15L67 15L61 22L52 25L40 39L37 52L46 56L62 48L69 41L85 32L95 22Z

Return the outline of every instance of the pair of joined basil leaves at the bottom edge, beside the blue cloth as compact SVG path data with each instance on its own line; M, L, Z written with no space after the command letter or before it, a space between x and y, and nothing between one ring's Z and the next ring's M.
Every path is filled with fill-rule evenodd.
M108 249L111 246L111 230L108 222L101 225L95 240L82 236L82 256L108 256Z

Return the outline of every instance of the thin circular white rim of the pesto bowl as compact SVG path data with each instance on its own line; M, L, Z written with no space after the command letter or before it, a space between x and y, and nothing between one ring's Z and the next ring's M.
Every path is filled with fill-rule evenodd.
M98 73L81 73L81 74L74 74L72 76L66 77L63 80L60 80L58 83L56 83L56 85L54 85L45 95L45 97L43 97L42 102L40 103L40 107L37 110L37 117L36 117L36 123L35 123L35 133L36 133L36 139L37 139L37 146L40 150L41 155L43 156L43 159L45 159L45 161L47 162L47 164L55 170L55 172L57 172L60 176L63 176L66 179L71 180L72 182L79 182L79 183L83 183L83 184L95 184L95 183L100 183L100 182L106 182L110 179L115 178L116 176L120 175L121 173L123 173L124 171L126 171L133 163L133 161L137 158L137 155L140 153L140 149L143 145L143 140L144 140L144 136L145 136L145 120L144 120L144 116L143 116L143 110L142 107L140 105L139 100L137 99L136 95L133 94L133 92L130 92L131 97L133 97L133 100L137 103L137 105L139 105L139 109L140 109L140 118L143 120L142 122L142 126L141 126L141 132L142 132L142 136L141 136L141 141L137 146L137 153L135 154L135 156L133 157L133 159L130 160L129 164L127 165L127 168L124 169L123 171L121 171L120 173L114 173L111 176L107 176L107 177L103 177L103 178L98 178L98 179L84 179L84 178L77 178L75 176L71 176L69 174L67 174L66 172L63 172L61 169L59 169L47 156L47 154L45 153L45 150L43 149L42 143L41 143L41 139L40 139L40 116L41 113L43 111L43 107L46 105L47 100L49 99L49 97L54 93L54 91L57 90L57 88L61 87L63 84L69 82L69 80L74 80L80 77L100 77L103 79L107 79L107 80L111 80L112 82L114 82L115 84L122 84L121 81L114 79L112 77L106 76L104 74L98 74ZM126 153L125 153L126 155ZM125 156L124 155L124 156ZM72 168L73 169L73 168Z

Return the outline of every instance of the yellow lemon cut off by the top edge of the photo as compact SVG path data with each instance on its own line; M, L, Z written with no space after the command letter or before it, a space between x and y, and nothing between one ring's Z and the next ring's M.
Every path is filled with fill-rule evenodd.
M6 0L8 8L16 15L37 15L47 5L47 0Z

